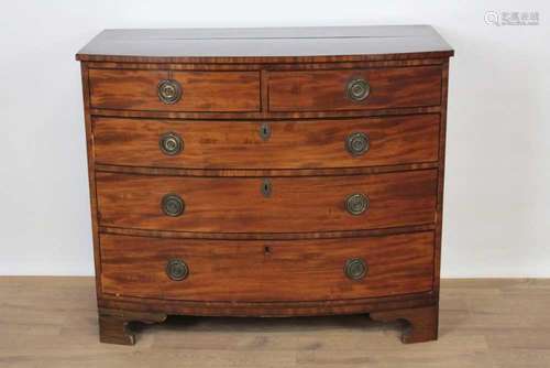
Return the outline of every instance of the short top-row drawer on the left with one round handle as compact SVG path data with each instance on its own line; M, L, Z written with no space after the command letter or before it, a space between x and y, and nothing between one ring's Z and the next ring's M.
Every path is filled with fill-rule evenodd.
M90 69L91 107L158 111L258 111L258 72Z

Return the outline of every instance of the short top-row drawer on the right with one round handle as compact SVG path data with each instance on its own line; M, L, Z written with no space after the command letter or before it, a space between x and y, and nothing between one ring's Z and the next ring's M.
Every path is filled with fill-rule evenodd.
M271 72L271 111L438 106L441 67Z

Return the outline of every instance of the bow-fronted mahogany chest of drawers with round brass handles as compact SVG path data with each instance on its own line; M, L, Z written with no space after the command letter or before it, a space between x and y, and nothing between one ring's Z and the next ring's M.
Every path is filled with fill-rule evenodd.
M95 37L77 59L100 339L172 314L437 338L452 55L430 26Z

